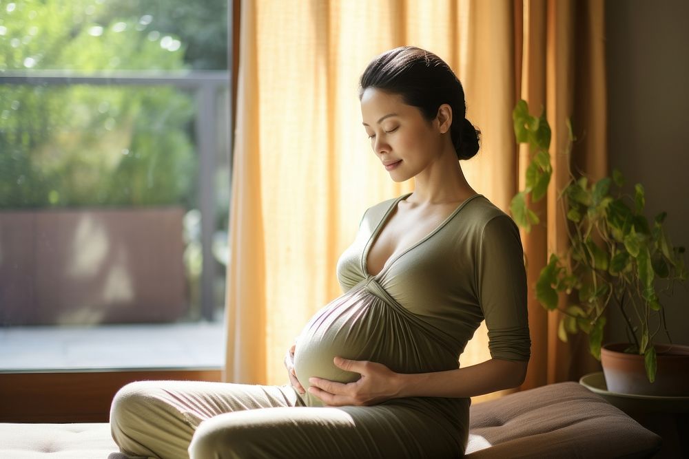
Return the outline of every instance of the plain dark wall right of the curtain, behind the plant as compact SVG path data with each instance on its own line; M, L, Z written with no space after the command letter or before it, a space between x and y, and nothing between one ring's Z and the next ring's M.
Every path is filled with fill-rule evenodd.
M610 171L644 184L647 215L667 211L670 239L689 249L688 18L685 0L606 1ZM687 284L661 303L672 341L689 345ZM627 341L621 314L610 320L606 341Z

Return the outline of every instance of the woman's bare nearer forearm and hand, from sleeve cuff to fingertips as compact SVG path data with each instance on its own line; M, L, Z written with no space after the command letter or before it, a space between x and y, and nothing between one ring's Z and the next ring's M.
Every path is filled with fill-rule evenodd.
M330 406L375 405L399 397L472 397L517 387L524 382L526 361L491 359L444 372L395 373L382 363L336 357L336 366L361 374L343 384L309 378L309 392Z

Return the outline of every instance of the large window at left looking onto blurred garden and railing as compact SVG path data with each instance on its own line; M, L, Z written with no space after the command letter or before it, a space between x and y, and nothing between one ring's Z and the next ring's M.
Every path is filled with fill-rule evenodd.
M0 1L0 368L93 367L70 354L89 348L127 366L103 333L220 339L227 18L226 0Z

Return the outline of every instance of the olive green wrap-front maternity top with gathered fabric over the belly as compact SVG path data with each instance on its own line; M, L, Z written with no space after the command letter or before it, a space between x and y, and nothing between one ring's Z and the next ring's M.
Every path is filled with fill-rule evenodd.
M495 359L528 361L526 273L513 220L482 195L462 202L435 230L393 255L378 275L369 248L400 200L367 209L353 244L338 261L344 294L309 320L297 341L300 383L319 376L351 382L359 374L334 356L383 363L400 373L453 370L485 319ZM308 392L307 405L320 401Z

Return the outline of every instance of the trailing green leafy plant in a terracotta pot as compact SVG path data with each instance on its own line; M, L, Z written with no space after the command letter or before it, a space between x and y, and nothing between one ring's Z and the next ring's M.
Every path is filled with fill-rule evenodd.
M513 121L517 142L530 146L531 160L526 169L525 189L514 196L511 211L515 222L529 231L539 223L539 218L529 209L528 202L542 199L551 179L551 129L545 112L539 117L531 116L524 100L517 103ZM569 142L563 154L569 164L574 137L569 122L567 125ZM649 221L644 216L644 187L636 184L634 195L626 195L624 178L617 170L612 177L597 181L586 176L577 178L571 170L569 177L566 185L557 190L557 200L567 219L569 248L566 253L551 254L542 269L535 286L539 303L547 310L562 312L558 329L562 341L567 341L568 334L588 334L590 353L598 360L606 310L613 305L621 312L629 342L602 346L604 374L611 391L664 395L679 395L677 390L686 392L687 379L679 389L666 387L665 380L656 381L657 370L663 370L664 365L665 370L682 369L683 377L689 378L689 360L677 365L672 355L687 354L683 359L689 359L689 348L655 343L661 332L670 339L659 294L672 295L675 283L687 279L685 250L673 246L664 230L666 213ZM566 307L559 308L562 292L569 301ZM617 366L608 368L609 355L615 351L623 360L631 357L638 362L643 381L639 381L639 376L631 382L611 381L619 374ZM645 385L638 387L638 383Z

